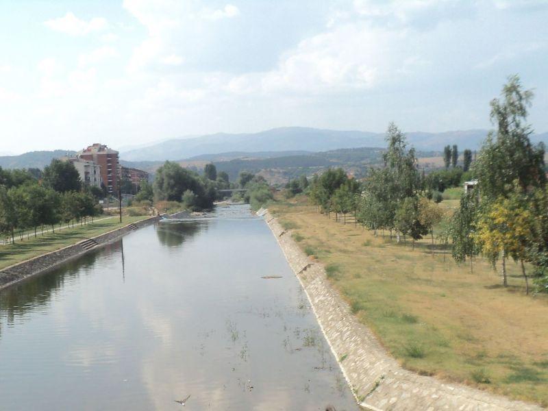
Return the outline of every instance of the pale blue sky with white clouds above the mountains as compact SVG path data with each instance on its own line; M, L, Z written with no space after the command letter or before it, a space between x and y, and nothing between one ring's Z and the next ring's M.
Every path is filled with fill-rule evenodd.
M0 152L301 125L548 131L548 0L0 1Z

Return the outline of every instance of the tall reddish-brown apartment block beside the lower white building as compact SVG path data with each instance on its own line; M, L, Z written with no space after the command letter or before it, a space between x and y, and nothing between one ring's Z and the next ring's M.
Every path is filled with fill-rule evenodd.
M88 148L78 151L76 157L82 160L95 162L101 167L101 179L107 192L116 195L120 185L121 166L118 151L109 149L106 145L95 143Z

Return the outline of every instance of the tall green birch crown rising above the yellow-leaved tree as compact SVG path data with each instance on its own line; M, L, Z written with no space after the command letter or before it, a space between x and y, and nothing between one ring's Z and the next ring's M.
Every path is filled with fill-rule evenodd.
M474 162L482 201L506 197L517 180L524 190L546 184L544 145L532 145L532 128L527 124L527 108L533 92L523 90L517 75L503 86L501 99L491 101L491 121L497 126L490 132Z

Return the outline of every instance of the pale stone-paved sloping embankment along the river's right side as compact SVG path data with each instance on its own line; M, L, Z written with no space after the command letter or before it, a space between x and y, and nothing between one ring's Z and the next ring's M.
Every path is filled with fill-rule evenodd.
M348 304L327 280L323 266L312 262L290 232L270 214L264 215L292 270L308 296L334 356L366 410L543 410L461 384L403 369L377 338L358 322Z

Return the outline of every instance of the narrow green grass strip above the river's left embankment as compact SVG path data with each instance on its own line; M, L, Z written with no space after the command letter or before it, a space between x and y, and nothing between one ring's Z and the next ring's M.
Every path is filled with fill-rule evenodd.
M0 269L7 266L28 260L29 258L37 257L50 251L55 251L73 245L86 238L99 236L105 232L110 232L113 229L123 227L129 223L136 223L147 219L149 216L123 216L120 223L118 216L112 216L95 223L86 225L75 225L74 228L64 228L60 232L47 233L43 236L38 232L36 238L30 237L29 240L18 241L16 238L15 244L0 245Z

